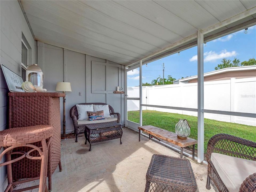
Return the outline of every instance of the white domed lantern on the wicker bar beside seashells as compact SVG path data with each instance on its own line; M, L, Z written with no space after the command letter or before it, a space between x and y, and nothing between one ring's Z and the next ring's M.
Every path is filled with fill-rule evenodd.
M37 64L27 67L26 81L31 82L34 86L43 86L43 71Z

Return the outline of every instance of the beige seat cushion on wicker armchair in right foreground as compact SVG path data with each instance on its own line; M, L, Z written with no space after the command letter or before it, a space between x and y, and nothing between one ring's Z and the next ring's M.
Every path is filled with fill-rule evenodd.
M211 161L229 192L239 191L245 178L256 172L256 161L252 160L212 153Z

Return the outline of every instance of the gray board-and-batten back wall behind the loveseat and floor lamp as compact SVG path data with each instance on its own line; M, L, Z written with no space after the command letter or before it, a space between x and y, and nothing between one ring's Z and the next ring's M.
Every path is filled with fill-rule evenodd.
M117 86L125 86L125 66L42 42L38 42L38 65L43 70L47 91L55 92L57 82L71 83L72 91L66 95L66 133L74 131L69 111L78 103L108 103L121 113L125 124L124 94L113 94ZM61 99L61 121L62 102Z

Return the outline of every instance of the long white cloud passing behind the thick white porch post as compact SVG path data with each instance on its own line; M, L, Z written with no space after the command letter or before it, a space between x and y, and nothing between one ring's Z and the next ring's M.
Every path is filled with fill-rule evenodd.
M227 58L227 57L233 57L237 55L236 51L227 51L222 50L219 53L215 53L215 51L209 51L203 53L205 58L203 59L204 62L209 62L209 61L215 61L217 59L222 59L222 58ZM197 55L194 55L192 58L189 59L189 61L197 61Z

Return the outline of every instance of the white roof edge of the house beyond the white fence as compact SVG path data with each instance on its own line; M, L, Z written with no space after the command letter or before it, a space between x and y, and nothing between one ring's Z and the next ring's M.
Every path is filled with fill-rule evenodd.
M225 69L219 69L219 70L215 70L215 71L210 71L208 73L204 73L203 76L207 77L207 76L216 75L216 74L220 74L220 73L226 73L226 72L230 72L230 71L246 71L246 70L256 70L256 65L240 66L240 67L227 67ZM255 76L256 76L256 74L255 74ZM186 77L183 79L178 79L173 82L175 83L175 82L191 81L192 79L197 79L197 75L194 75L191 77Z

